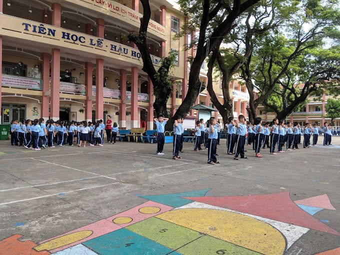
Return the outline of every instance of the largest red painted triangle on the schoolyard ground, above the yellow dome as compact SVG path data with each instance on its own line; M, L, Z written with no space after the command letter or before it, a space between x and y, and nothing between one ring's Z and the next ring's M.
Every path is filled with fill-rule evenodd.
M339 232L323 224L299 208L289 196L289 191L248 196L202 196L184 197L235 211L249 213L264 218L307 227L326 233L340 235Z

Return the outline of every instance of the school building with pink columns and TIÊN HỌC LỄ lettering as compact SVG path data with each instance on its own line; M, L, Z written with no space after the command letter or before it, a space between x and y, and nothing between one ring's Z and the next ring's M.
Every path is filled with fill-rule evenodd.
M157 67L170 49L177 52L167 102L173 114L187 91L187 59L195 52L184 45L194 36L173 39L188 19L175 2L150 0L150 7L147 43L153 64ZM141 16L138 0L0 0L0 122L92 121L109 114L120 128L153 128L152 83L126 37L139 30ZM206 63L200 79L206 82ZM234 116L246 114L245 87L235 82L230 93ZM206 90L198 103L212 106ZM220 118L217 111L213 115ZM191 110L187 118L198 118L198 112Z

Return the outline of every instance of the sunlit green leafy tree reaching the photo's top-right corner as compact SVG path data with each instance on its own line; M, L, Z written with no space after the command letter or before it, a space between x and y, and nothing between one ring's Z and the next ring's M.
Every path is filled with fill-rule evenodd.
M257 106L274 92L277 83L282 86L282 80L290 75L291 62L310 49L320 48L339 24L340 14L334 2L302 0L298 7L293 18L285 22L283 27L268 31L259 38L257 47L241 66L250 96L247 108L250 119L256 117ZM310 77L314 79L314 76ZM309 84L315 83L305 80L306 86L301 91L312 91ZM254 97L254 87L259 90L257 98ZM288 94L294 94L295 88L291 85L286 85L285 89L289 90ZM285 97L288 95L284 94ZM300 102L307 95L303 93ZM291 111L294 107L291 105L285 111Z

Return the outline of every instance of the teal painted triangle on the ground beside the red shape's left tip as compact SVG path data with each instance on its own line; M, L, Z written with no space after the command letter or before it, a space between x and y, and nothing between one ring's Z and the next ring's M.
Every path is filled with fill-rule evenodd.
M187 198L182 198L181 196L185 197L194 197L194 196L204 196L207 191L209 191L210 188L201 189L201 190L193 190L193 191L187 191L187 192L181 192L181 193L170 193L170 194L161 194L161 195L141 195L139 197L145 198L147 200L151 200L154 202L166 204L168 206L172 207L180 207L185 204L188 204L192 202L192 200L189 200Z

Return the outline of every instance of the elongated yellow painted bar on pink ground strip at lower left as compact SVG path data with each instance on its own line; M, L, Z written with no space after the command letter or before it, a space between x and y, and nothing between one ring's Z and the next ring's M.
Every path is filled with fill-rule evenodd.
M51 250L56 249L58 247L73 243L75 241L79 241L83 238L90 236L93 232L91 230L82 230L70 234L66 234L55 239L46 241L41 243L40 245L34 247L35 250Z

